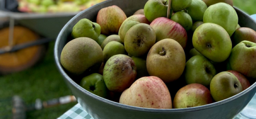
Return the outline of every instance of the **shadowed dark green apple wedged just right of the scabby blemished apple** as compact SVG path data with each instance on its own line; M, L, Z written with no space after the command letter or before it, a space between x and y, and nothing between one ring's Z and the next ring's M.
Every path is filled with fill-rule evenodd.
M149 76L147 72L146 60L138 57L131 57L137 67L137 76L136 79L142 78L144 76Z

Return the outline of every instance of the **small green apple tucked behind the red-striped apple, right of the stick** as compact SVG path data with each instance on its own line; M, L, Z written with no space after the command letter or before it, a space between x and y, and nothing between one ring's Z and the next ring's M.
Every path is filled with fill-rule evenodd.
M185 28L186 31L189 31L192 28L193 21L191 19L191 16L189 16L189 14L187 14L186 12L175 12L175 14L171 17L171 20L179 23L183 28Z

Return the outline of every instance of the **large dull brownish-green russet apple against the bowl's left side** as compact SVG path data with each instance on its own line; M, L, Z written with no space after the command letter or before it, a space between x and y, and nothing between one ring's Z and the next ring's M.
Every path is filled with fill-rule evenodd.
M69 41L60 54L60 63L72 74L80 75L89 67L103 61L103 52L98 43L88 37Z

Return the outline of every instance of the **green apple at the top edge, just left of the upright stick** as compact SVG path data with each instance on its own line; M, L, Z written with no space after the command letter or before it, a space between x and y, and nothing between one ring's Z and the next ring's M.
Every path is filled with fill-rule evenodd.
M144 15L149 22L156 18L167 16L168 2L166 0L149 0L144 6Z

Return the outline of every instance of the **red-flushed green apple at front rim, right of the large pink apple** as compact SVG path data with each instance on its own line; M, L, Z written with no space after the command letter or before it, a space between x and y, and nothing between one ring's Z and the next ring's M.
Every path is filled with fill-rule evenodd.
M174 97L174 108L191 108L212 103L212 95L202 84L192 83L180 88Z

